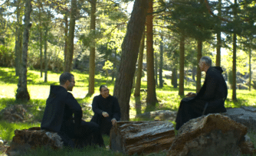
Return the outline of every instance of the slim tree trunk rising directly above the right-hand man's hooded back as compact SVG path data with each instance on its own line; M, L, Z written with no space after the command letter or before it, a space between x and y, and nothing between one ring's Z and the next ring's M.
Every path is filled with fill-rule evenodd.
M222 0L218 0L218 17L222 16ZM222 21L219 20L218 26L221 27ZM222 32L217 32L217 55L216 55L216 66L221 67L221 47L222 47Z

